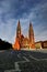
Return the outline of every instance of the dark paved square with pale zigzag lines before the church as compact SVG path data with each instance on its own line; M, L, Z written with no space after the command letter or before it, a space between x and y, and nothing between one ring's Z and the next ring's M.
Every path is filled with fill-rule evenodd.
M47 53L42 51L0 52L0 72L47 71Z

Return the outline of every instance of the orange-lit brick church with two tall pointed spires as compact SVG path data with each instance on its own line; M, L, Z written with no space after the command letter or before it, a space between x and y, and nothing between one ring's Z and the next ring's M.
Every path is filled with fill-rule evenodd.
M34 30L33 30L32 23L30 23L28 38L26 38L22 34L20 21L17 22L16 38L15 38L15 42L13 44L13 49L14 50L35 49Z

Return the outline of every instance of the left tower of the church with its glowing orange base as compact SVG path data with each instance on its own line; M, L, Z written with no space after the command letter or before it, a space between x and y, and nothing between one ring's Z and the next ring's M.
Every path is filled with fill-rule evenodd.
M21 24L20 24L20 20L17 22L17 27L16 27L16 38L15 38L15 42L14 42L14 50L20 50L20 43L21 43Z

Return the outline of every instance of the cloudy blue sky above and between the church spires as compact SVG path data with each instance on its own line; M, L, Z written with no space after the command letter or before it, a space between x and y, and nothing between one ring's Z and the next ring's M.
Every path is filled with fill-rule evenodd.
M0 0L0 39L14 43L19 20L24 37L32 22L35 41L47 40L47 0Z

